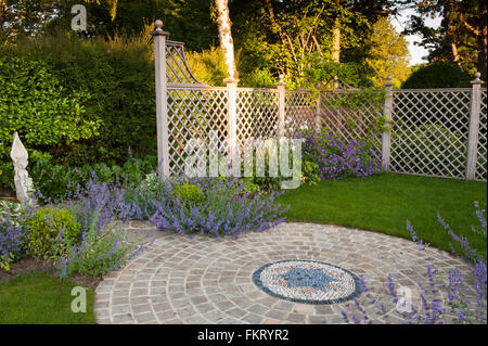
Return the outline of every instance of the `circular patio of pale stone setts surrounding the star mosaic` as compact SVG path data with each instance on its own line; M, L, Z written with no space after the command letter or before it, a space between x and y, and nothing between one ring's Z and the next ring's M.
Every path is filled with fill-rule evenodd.
M143 232L154 230L143 222L129 222L128 227ZM376 313L381 303L386 310L395 309L387 290L388 273L396 287L410 290L418 309L421 304L416 283L428 286L429 264L439 270L436 278L447 279L454 266L467 273L463 261L437 248L419 251L406 239L338 226L286 222L266 232L242 234L236 240L190 239L169 231L155 231L154 235L156 240L147 249L124 268L110 272L97 287L97 323L343 323L342 310L360 317L354 296L367 307L373 322L401 323L398 313L387 321L384 315ZM254 280L266 281L259 277L259 270L287 260L295 269L279 268L281 273L272 279L281 285L299 286L296 277L301 280L306 271L307 280L323 289L338 280L334 271L329 275L317 271L330 266L346 277L363 277L371 291L347 297L345 293L344 299L332 303L320 297L318 302L297 302L264 290L262 283L257 284L261 281ZM319 269L297 260L320 262L316 266ZM368 307L368 294L378 298L374 306ZM447 294L437 296L446 303Z

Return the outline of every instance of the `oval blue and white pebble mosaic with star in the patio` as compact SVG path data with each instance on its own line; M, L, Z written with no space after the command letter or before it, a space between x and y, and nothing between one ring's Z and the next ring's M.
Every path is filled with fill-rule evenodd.
M359 278L352 272L312 260L268 264L254 272L253 280L268 294L296 303L342 303L361 292Z

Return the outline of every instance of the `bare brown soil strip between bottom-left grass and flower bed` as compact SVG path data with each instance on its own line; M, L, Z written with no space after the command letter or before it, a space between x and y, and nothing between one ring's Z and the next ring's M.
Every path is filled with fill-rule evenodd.
M53 277L59 278L57 270L48 261L35 259L33 257L24 257L21 260L10 265L10 271L0 269L0 283L12 280L18 275L33 272L42 271ZM68 281L87 289L94 291L102 281L102 275L97 278L84 277L78 273L73 274Z

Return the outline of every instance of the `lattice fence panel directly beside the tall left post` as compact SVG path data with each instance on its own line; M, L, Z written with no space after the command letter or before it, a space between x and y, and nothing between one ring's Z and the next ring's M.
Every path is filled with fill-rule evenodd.
M208 143L208 133L218 132L219 142L228 138L228 91L226 88L169 88L168 132L169 169L184 171L190 139ZM192 153L198 154L198 153Z

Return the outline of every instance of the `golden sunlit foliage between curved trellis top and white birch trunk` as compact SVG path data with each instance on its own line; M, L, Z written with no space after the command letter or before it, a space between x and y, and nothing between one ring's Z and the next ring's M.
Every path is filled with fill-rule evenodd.
M198 80L213 87L224 86L223 79L228 73L221 49L210 47L208 50L189 52L185 55L190 71Z

